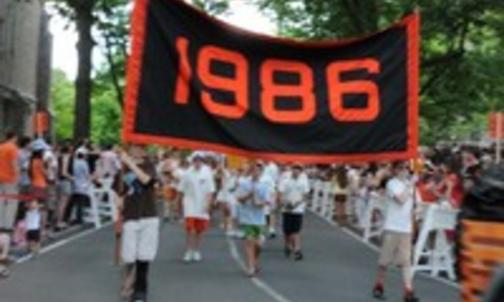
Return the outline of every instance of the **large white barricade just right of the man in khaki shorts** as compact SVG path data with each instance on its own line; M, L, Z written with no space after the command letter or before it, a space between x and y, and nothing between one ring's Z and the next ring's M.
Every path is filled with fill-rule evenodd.
M455 280L455 257L452 245L446 237L446 231L455 229L458 211L447 206L430 205L425 212L425 219L415 245L413 274L419 271L430 272L437 276L441 272ZM429 237L434 236L429 242Z

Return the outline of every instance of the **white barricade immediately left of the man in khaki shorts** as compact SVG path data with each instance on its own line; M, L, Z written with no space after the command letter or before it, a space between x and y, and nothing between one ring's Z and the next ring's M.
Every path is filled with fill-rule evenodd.
M369 242L372 238L382 235L384 216L385 202L382 196L372 192L369 195L363 219L364 241Z

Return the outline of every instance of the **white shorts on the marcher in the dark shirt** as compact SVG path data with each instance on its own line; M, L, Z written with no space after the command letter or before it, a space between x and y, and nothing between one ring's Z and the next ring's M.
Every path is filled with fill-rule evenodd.
M129 220L123 225L122 259L131 264L140 261L153 261L159 245L159 218L149 217Z

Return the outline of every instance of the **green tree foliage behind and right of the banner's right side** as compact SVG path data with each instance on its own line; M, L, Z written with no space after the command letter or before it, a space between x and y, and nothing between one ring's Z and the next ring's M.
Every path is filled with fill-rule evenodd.
M432 144L461 123L502 108L504 2L493 0L256 0L283 36L322 40L363 35L419 8L421 130ZM480 127L481 128L481 127Z

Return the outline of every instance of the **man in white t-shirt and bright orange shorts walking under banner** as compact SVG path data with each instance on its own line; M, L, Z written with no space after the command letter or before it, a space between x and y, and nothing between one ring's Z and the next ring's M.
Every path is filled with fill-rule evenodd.
M184 262L202 260L200 246L203 234L210 224L210 208L215 182L204 168L203 158L194 156L191 167L182 175L180 192L186 227Z

